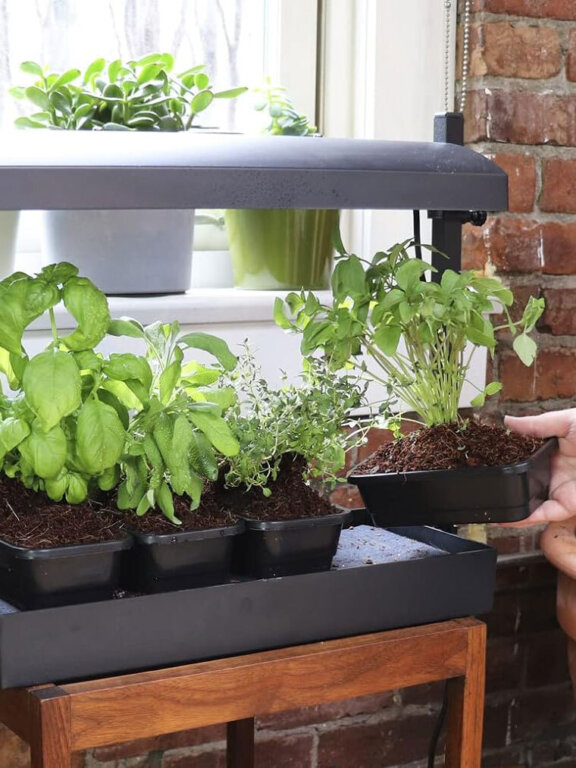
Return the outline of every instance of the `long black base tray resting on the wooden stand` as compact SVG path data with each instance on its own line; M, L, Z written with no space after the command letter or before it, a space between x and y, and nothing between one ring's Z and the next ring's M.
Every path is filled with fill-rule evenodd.
M354 523L369 523L364 510ZM0 602L0 687L165 667L485 613L496 552L433 528L395 528L445 555L240 581L87 605Z

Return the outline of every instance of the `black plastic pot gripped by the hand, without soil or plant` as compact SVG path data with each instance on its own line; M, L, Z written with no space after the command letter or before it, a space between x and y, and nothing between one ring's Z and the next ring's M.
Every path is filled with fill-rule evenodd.
M378 525L462 525L524 520L548 498L556 438L504 467L351 474Z

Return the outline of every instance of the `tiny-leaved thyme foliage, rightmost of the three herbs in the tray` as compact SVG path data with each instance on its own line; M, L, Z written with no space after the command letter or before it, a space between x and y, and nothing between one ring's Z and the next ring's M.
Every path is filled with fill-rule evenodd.
M222 380L237 395L227 420L240 444L227 461L228 486L259 487L270 495L267 486L286 454L305 460L305 479L335 480L347 450L363 441L364 430L350 415L364 396L357 377L334 375L323 360L310 358L301 379L272 388L246 348L237 369Z

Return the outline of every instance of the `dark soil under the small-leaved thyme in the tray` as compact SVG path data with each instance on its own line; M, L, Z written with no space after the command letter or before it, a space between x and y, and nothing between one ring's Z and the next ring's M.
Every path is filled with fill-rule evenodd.
M269 485L271 496L264 496L261 488L228 488L219 493L220 506L235 516L252 520L296 520L336 514L337 509L306 485L302 479L304 467L303 459L286 455L277 480Z

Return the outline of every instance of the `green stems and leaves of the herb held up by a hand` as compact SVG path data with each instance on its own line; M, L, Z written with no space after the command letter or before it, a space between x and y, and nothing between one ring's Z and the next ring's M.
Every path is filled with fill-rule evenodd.
M536 344L528 334L542 314L542 299L530 298L514 321L508 309L512 292L497 278L448 269L440 282L431 282L426 277L435 270L410 256L411 241L378 252L371 261L347 253L339 237L336 241L340 257L331 305L305 292L276 300L276 321L302 333L303 354L321 349L333 369L359 369L427 426L458 420L472 354L478 347L493 354L495 331L507 328L522 362L533 362ZM504 326L494 327L489 319L494 304L503 308ZM473 405L483 405L500 389L500 383L491 382ZM390 414L389 399L381 410Z

